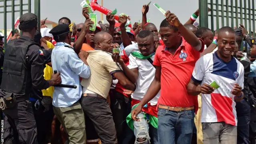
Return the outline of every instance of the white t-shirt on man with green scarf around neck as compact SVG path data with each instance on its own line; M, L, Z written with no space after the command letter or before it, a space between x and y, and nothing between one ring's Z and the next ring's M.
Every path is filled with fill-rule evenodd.
M154 56L151 57L154 61ZM142 100L145 96L151 82L154 80L156 68L147 60L140 59L132 56L129 56L129 65L128 68L138 68L138 80L136 82L136 90L132 93L132 98L135 100ZM160 96L160 91L158 94L150 101L150 105L154 106L157 104L157 100Z

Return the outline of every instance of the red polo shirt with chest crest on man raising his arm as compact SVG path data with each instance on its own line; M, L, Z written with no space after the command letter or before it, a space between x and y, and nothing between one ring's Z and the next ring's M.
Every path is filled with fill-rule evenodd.
M200 40L200 39L199 39ZM200 52L204 50L204 42ZM161 92L158 104L174 107L196 106L195 98L187 93L187 84L190 81L196 61L200 52L192 48L182 37L182 44L172 55L166 46L159 46L156 50L153 64L161 66ZM187 55L186 60L179 58L181 51Z

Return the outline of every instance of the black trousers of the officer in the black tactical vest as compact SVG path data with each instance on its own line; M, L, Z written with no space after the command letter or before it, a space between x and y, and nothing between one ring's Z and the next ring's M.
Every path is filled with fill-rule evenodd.
M5 109L3 112L5 144L38 144L31 102L17 102L14 108Z

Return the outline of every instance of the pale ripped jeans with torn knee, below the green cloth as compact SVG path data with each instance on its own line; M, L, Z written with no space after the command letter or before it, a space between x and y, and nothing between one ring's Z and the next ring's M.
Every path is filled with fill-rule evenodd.
M144 113L137 115L140 121L134 121L134 136L136 137L134 144L158 144L157 129L154 128L144 118Z

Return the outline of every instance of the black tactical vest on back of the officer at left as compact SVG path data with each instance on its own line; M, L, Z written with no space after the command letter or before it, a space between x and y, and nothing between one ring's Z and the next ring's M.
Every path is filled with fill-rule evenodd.
M17 40L18 42L16 42ZM29 46L34 44L36 44L34 41L26 39L16 39L8 42L2 70L2 90L14 94L30 94L32 80L31 66L27 60L27 50Z

